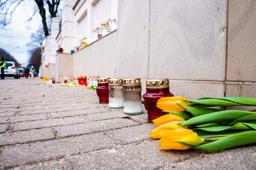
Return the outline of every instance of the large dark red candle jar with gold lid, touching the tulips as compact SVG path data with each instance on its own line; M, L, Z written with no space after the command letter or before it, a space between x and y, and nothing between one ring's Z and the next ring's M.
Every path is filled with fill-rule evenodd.
M163 97L173 97L173 94L170 92L168 78L147 80L146 90L147 92L142 97L144 99L145 108L148 112L148 122L152 123L152 120L155 118L167 114L157 108L156 103L158 99Z

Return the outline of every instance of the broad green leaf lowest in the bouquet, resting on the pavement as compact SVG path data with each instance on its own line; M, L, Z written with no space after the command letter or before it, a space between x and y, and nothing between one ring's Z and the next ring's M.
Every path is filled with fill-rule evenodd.
M256 143L256 131L239 132L211 143L195 146L194 148L214 153L228 148L233 148L235 146L248 145L251 143Z

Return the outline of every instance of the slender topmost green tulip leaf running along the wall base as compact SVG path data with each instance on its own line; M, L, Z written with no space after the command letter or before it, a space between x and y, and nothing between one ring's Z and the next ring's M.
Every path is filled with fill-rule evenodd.
M207 106L241 106L243 104L240 103L235 103L232 101L228 101L225 99L218 99L218 98L210 98L210 97L205 97L197 100L188 100L188 99L182 99L182 101L188 101L189 103L196 103L196 104L203 104Z

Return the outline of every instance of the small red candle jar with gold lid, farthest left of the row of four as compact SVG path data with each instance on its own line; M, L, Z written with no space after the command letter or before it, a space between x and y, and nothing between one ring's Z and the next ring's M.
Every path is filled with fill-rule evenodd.
M96 90L100 103L108 103L108 80L109 78L98 78Z

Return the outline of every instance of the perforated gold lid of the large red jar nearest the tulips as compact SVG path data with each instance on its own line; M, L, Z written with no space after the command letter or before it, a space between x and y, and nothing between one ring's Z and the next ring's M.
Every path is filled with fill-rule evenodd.
M147 89L164 89L170 87L168 78L146 80Z

